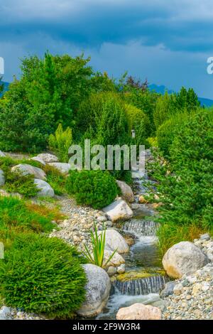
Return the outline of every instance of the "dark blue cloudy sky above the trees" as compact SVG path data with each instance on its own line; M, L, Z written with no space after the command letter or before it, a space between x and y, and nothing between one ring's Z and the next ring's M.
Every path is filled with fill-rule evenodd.
M213 99L212 0L0 0L5 81L25 55L91 55L95 70L129 74Z

